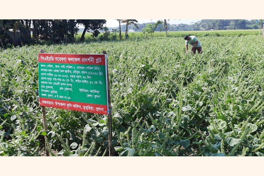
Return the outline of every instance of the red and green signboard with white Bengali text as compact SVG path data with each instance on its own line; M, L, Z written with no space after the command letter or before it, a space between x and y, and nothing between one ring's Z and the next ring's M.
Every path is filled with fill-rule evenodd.
M38 54L39 105L108 114L106 54Z

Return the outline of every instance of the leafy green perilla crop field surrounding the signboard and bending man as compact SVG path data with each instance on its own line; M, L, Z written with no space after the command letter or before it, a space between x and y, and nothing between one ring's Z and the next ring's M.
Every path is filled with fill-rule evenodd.
M106 115L47 107L44 131L38 103L42 48L107 51L117 156L264 156L264 38L255 35L258 30L216 32L199 35L201 55L186 54L182 37L137 33L134 40L0 50L0 155L43 156L44 136L52 156L108 155Z

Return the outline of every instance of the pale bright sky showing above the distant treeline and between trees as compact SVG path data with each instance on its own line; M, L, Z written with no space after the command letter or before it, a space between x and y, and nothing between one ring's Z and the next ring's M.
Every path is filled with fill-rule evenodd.
M149 20L138 20L138 19L136 19L137 21L138 21L138 24L142 24L142 23L151 23L151 22L154 22L154 23L156 23L158 20L151 20L151 19L149 19ZM164 20L162 20L162 21L164 21ZM191 24L192 22L197 22L197 21L201 21L201 20L179 20L179 19L177 19L177 20L169 20L169 21L167 21L167 23L169 23L169 24L180 24L180 23L183 23L183 24ZM118 21L117 20L106 20L106 27L108 27L108 28L117 28L119 26L119 23L118 23Z

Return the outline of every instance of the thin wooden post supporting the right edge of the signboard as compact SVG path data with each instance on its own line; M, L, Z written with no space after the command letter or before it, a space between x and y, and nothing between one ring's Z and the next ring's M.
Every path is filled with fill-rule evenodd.
M106 54L106 51L103 51L103 54ZM115 156L113 151L113 143L112 143L112 106L111 106L111 97L110 97L110 86L109 86L109 75L108 75L108 64L106 65L107 68L107 93L108 93L108 145L109 145L109 156Z

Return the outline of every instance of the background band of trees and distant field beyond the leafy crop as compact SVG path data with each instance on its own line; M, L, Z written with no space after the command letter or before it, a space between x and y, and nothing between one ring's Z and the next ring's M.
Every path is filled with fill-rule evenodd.
M0 20L0 47L7 48L17 45L32 45L41 43L74 43L83 41L124 40L143 37L183 37L189 35L228 35L228 31L242 35L259 34L263 20L201 20L193 24L170 25L169 20L158 20L156 23L138 24L137 20L117 20L119 28L107 28L106 20ZM135 32L129 32L129 30ZM241 29L256 29L256 31L239 31ZM216 31L215 31L216 30ZM219 31L220 30L220 31ZM155 32L156 31L156 32ZM207 34L199 31L208 31ZM154 33L155 32L155 33ZM220 33L218 33L220 32ZM231 31L232 34L234 31Z

